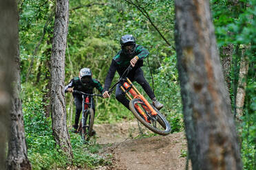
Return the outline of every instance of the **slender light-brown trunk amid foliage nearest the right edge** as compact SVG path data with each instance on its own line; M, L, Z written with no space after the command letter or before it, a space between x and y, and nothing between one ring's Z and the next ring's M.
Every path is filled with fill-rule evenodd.
M243 116L243 107L244 107L244 97L246 95L246 77L248 73L248 57L245 54L246 49L248 47L244 47L242 49L242 58L240 62L240 71L239 71L239 80L237 86L237 96L235 98L236 104L236 118L237 121L241 121L241 117Z

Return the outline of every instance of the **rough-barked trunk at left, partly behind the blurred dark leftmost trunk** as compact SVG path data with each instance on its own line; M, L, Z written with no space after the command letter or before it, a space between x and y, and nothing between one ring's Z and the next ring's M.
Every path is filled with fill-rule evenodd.
M32 169L30 161L28 160L28 151L25 143L25 131L23 124L23 113L21 106L21 99L19 98L19 93L21 91L21 69L20 69L20 58L19 58L19 34L18 34L18 12L17 4L13 1L13 14L14 23L12 27L12 34L8 36L14 38L12 42L12 48L9 51L13 51L11 58L14 58L12 65L12 76L14 77L14 82L12 82L12 108L10 110L10 135L9 135L9 147L8 147L8 160L7 169ZM8 19L10 16L8 15ZM6 29L6 28L4 28ZM16 49L16 50L15 50ZM10 84L8 84L10 86Z

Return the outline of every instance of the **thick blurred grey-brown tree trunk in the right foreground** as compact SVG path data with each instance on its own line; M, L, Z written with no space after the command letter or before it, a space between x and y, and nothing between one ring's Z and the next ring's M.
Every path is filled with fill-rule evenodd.
M193 169L242 169L209 1L175 0L184 124Z

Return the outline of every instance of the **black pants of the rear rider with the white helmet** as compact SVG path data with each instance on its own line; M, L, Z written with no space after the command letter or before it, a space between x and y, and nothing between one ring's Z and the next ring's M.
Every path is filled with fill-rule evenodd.
M75 94L73 96L74 96L74 103L76 105L76 117L75 117L74 127L78 127L79 118L82 111L83 98L82 98L82 95ZM94 99L92 99L92 109L94 110L94 114L95 114Z

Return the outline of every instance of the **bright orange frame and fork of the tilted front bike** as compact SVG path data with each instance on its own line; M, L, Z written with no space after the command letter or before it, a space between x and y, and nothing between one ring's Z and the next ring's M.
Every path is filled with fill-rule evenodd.
M125 88L123 88L122 86L124 86ZM127 82L125 82L124 84L122 84L122 86L120 87L122 89L123 92L125 92L125 95L127 95L127 97L131 100L131 96L127 93L127 89L131 86L131 89L129 90L129 93L131 93L131 95L134 97L134 99L141 99L144 104L147 106L145 107L144 105L142 105L142 107L149 111L152 115L156 115L158 114L156 112L156 110L153 109L153 107L151 106L151 104L149 104L149 101L147 101L147 99L145 99L145 97L143 95L140 94L140 92L137 90L137 88L134 86L134 84L131 83L131 80L129 80L129 78L127 78ZM125 90L126 89L126 90ZM135 105L135 108L138 110L138 112L140 112L140 114L142 114L142 116L145 118L145 120L147 122L149 122L147 120L147 115L145 114L145 112L143 112L143 110L138 106Z

